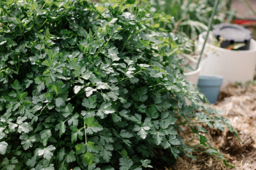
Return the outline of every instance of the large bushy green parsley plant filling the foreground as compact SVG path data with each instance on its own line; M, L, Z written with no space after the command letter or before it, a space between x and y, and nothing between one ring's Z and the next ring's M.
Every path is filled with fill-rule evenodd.
M177 135L184 124L194 147L224 160L192 126L236 132L184 81L176 52L188 42L152 28L169 16L135 3L1 1L2 169L139 170L154 148L195 159Z

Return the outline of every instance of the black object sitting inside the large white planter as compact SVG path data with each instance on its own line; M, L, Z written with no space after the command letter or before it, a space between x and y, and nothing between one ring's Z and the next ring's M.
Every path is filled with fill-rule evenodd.
M221 23L215 25L212 29L212 33L219 40L219 37L223 37L226 40L221 43L221 47L225 48L234 43L245 43L245 46L239 48L239 50L249 50L251 32L250 30L231 23Z

